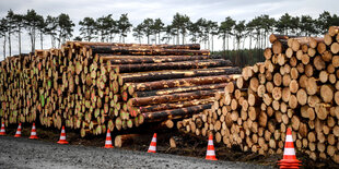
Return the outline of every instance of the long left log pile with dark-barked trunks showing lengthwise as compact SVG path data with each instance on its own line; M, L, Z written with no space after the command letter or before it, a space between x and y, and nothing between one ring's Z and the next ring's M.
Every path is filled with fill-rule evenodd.
M102 134L211 108L239 74L199 45L68 41L1 62L1 120ZM170 121L168 121L170 120Z

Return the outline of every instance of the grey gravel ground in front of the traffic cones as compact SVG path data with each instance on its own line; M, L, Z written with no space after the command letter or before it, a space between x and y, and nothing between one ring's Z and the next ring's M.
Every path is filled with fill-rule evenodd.
M234 161L209 161L168 154L120 148L59 145L45 141L0 136L0 168L270 168Z

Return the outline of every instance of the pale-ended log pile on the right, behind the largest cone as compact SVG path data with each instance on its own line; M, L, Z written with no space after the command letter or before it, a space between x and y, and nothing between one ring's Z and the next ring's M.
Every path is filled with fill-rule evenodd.
M217 94L212 108L177 123L244 152L282 154L287 128L299 152L339 162L339 27L324 38L271 35L266 61Z

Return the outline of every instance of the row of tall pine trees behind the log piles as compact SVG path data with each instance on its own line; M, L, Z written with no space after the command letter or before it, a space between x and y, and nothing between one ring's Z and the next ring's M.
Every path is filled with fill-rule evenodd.
M267 37L271 33L293 34L300 36L319 36L327 32L330 25L339 25L337 14L324 11L318 17L309 15L292 16L289 13L279 19L267 14L256 16L250 21L235 21L231 16L218 23L207 19L191 21L186 14L176 13L171 23L165 24L161 19L145 19L138 25L132 25L128 14L121 14L117 20L113 14L97 19L84 17L79 24L79 36L73 36L75 24L66 13L58 16L43 15L35 10L25 14L8 11L0 20L0 38L3 44L3 56L9 50L12 56L12 38L17 38L19 52L22 52L22 35L27 34L31 50L34 51L39 40L44 48L44 37L50 36L50 46L60 47L66 40L86 41L120 41L125 43L128 34L132 34L138 43L145 39L148 44L186 44L200 43L204 48L214 50L215 38L222 40L222 50L264 49L268 45ZM248 41L245 46L245 41Z

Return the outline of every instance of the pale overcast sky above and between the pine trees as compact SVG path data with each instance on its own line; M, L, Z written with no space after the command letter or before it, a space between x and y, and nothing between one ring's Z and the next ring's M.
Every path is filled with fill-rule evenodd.
M96 19L110 13L115 19L128 13L133 25L147 17L161 17L168 24L176 12L190 16L191 21L204 17L221 22L226 16L249 21L260 14L278 19L285 12L291 15L308 14L313 17L317 17L324 10L339 14L337 4L338 0L0 0L0 16L5 16L10 9L15 13L26 13L27 9L34 9L44 16L67 13L77 25L85 16ZM74 34L78 35L78 31ZM46 40L45 48L48 48L50 43ZM129 35L127 43L136 40ZM17 40L14 39L14 52ZM221 49L221 43L215 44L214 48ZM0 45L2 56L2 40ZM28 40L25 40L23 48L25 52L28 51Z

